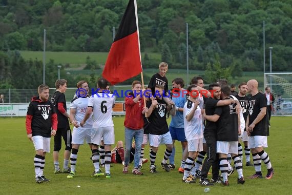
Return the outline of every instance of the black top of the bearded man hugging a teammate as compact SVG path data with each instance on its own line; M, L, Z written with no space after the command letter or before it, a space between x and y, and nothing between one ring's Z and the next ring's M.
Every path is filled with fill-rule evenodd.
M215 113L215 109L219 100L215 100L212 97L209 97L205 102L205 113L206 115L213 115ZM219 114L218 114L219 115ZM208 135L209 133L214 134L216 133L216 123L206 120L206 126L204 129L204 136Z

